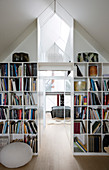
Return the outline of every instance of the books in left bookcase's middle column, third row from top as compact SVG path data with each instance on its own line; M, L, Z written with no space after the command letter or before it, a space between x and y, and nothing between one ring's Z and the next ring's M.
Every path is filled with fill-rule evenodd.
M22 105L22 96L17 95L16 93L11 93L10 104L11 105Z

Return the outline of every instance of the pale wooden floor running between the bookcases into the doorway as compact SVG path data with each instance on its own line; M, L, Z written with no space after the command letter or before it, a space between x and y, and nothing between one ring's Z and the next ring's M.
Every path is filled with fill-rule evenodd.
M7 170L0 165L0 170ZM109 170L109 157L73 157L64 125L48 125L38 157L18 170Z

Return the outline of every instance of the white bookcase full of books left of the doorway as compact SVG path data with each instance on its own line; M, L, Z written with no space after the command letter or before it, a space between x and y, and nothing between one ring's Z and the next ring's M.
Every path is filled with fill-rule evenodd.
M0 138L30 143L38 155L37 63L0 64L0 86Z

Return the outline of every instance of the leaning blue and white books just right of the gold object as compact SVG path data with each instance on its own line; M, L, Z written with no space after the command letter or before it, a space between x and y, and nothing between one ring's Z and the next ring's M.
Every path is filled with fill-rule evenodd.
M97 80L90 79L89 80L89 90L91 91L100 91L100 84Z

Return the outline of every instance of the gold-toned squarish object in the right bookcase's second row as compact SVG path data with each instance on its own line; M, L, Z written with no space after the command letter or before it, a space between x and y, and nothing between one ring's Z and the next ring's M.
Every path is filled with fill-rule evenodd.
M75 81L74 82L74 90L75 91L85 91L86 90L86 82L85 81Z

